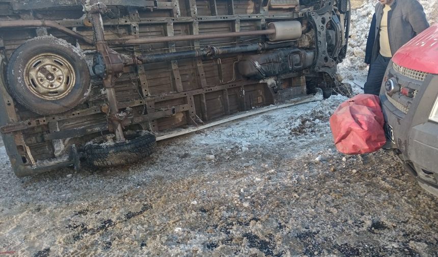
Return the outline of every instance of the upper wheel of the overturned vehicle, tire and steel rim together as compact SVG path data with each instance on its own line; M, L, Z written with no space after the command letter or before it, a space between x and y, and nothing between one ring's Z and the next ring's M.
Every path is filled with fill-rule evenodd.
M87 98L91 86L85 55L53 36L19 46L9 59L6 77L11 96L41 115L74 108Z

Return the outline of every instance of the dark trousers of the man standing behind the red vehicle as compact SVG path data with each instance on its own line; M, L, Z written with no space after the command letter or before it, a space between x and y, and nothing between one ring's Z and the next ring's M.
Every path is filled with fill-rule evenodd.
M383 57L379 54L376 60L370 64L367 82L364 86L365 94L379 95L385 71L390 60L390 57Z

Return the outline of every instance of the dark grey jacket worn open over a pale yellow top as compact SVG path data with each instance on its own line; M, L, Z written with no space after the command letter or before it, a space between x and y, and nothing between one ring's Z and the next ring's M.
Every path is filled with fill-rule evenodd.
M377 58L379 45L380 21L383 16L384 6L377 4L375 40L371 63ZM388 37L392 55L407 41L429 28L423 7L417 0L394 0L388 12Z

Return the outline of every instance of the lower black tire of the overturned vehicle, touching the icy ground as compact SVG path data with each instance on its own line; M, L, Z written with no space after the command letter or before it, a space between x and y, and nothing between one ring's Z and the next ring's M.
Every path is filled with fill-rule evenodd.
M146 131L125 134L126 141L105 145L102 138L85 146L87 163L94 167L130 164L150 156L156 146L155 135Z

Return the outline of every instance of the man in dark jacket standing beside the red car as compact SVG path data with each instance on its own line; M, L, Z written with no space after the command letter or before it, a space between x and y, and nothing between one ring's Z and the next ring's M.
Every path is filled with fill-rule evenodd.
M429 27L423 7L417 0L379 0L375 7L375 40L366 94L378 95L391 57L407 41Z

